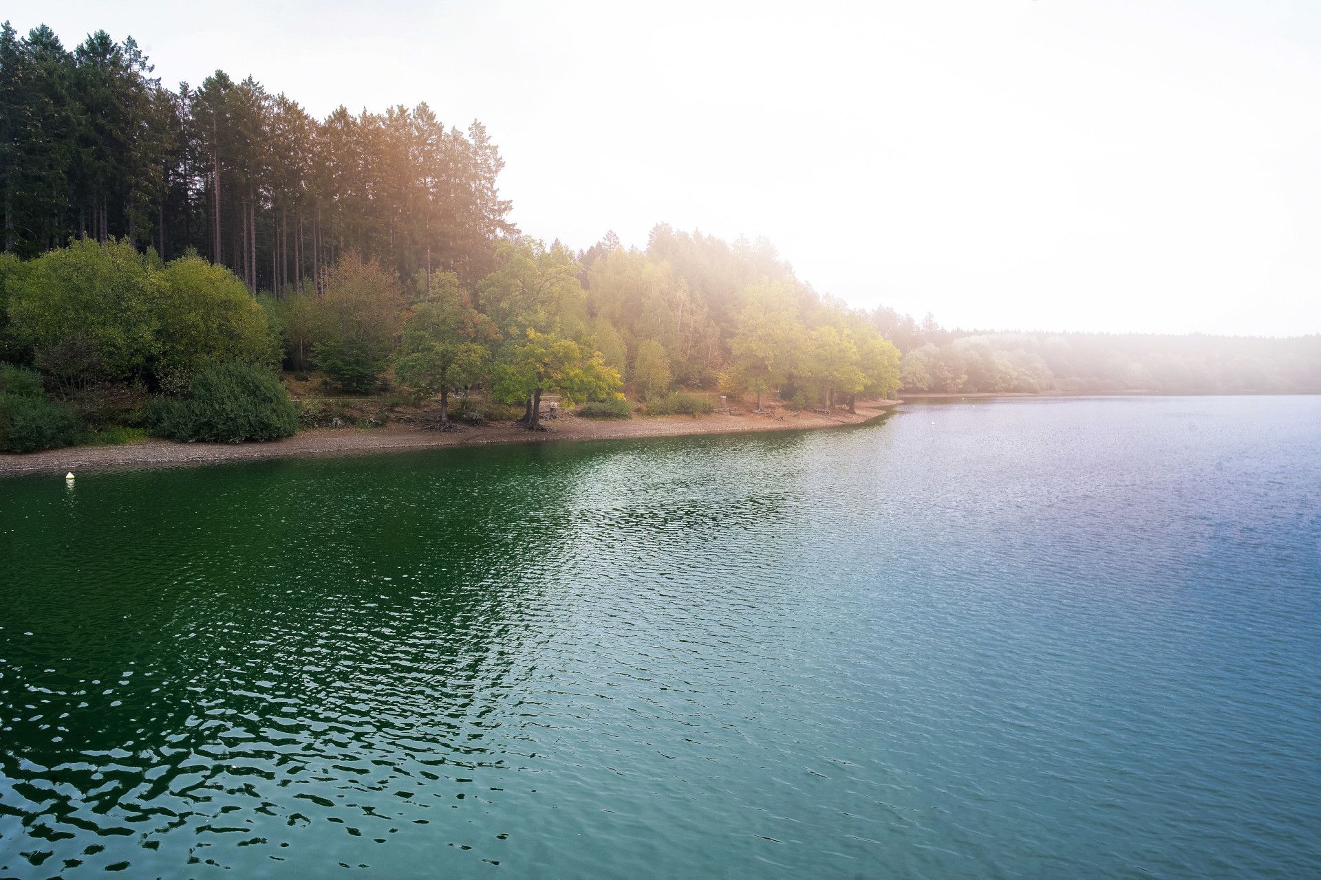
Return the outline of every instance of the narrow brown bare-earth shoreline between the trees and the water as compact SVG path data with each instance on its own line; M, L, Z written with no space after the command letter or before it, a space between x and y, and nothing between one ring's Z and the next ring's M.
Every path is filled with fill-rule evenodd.
M148 439L124 446L69 446L40 453L0 453L0 478L79 470L178 467L223 462L259 462L276 458L417 451L457 446L490 446L493 443L696 437L845 427L890 414L901 402L898 400L859 402L856 414L840 412L830 416L812 412L782 412L778 416L713 413L699 418L691 416L643 416L629 420L592 420L565 416L547 425L546 431L528 431L513 422L464 426L460 430L445 433L391 424L384 427L317 427L269 443L177 443L174 441Z

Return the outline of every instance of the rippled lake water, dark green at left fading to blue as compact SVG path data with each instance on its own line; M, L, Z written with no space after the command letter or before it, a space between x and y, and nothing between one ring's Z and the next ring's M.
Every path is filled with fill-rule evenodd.
M1321 397L0 480L0 876L1321 875Z

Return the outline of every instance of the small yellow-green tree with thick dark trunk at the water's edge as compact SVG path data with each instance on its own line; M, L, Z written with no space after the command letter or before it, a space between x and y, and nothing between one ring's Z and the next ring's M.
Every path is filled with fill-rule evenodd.
M624 381L606 367L600 352L587 355L571 339L527 331L527 342L506 350L498 365L495 394L509 402L531 400L527 430L542 427L542 394L556 393L564 402L620 398Z

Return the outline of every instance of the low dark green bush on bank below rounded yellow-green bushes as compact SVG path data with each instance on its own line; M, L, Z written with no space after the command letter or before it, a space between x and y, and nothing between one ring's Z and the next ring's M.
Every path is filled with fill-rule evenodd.
M157 437L242 443L292 437L299 410L269 369L231 361L203 367L184 400L157 400L147 414Z

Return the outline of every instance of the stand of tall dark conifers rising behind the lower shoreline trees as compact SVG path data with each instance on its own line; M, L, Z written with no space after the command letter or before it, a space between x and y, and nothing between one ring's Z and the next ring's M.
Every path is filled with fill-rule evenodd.
M425 104L317 120L221 70L165 88L131 37L69 51L44 25L0 26L3 240L20 257L127 237L276 296L347 252L474 281L514 231L502 165L481 123L446 128Z

